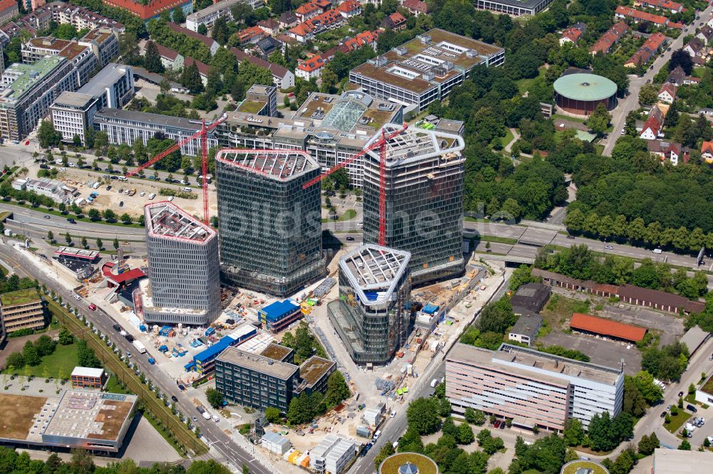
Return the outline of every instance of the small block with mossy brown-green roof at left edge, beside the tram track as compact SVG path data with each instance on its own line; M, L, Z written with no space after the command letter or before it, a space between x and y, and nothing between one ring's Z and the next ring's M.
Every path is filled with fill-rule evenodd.
M17 290L0 295L0 317L4 334L45 327L44 302L36 288Z

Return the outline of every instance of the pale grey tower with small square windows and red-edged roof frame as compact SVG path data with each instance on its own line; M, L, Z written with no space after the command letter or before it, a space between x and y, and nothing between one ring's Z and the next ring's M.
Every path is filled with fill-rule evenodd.
M150 323L209 325L220 315L215 231L168 201L147 204L150 287L141 307Z

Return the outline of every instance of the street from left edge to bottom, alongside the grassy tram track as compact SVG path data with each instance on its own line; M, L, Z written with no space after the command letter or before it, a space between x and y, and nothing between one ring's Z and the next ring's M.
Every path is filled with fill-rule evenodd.
M101 331L102 334L109 335L123 354L135 352L133 344L130 344L126 339L120 337L118 332L113 329L112 326L116 324L116 320L113 320L113 318L101 310L101 308L98 308L96 311L89 310L86 300L74 300L70 291L59 285L53 278L48 278L46 273L36 267L36 263L26 258L22 251L11 248L9 243L6 243L4 240L0 243L0 260L11 265L20 277L38 280L41 284L46 285L48 289L54 290L55 293L61 295L64 301L71 302L71 305L78 307L80 315L84 315L88 321L93 322L94 327ZM147 379L153 381L153 384L160 388L162 393L169 396L173 394L178 398L177 406L180 411L183 411L183 414L188 417L193 417L198 414L188 394L180 391L176 382L157 366L149 364L147 357L133 357L131 360L138 366L138 369L145 374ZM248 453L245 449L238 446L229 435L220 429L217 423L212 420L206 421L201 416L197 418L198 421L194 421L193 424L200 428L202 436L208 441L209 446L215 448L222 458L228 460L235 468L240 470L242 465L245 464L249 466L250 473L252 474L274 474L274 471L270 470L270 468L258 463L251 453ZM219 458L219 460L222 459Z

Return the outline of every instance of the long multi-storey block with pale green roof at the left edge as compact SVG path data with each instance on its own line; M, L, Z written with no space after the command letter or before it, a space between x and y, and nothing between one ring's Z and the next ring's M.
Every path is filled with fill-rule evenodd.
M73 63L63 56L7 68L0 84L0 135L12 140L26 137L61 93L76 90L73 70Z

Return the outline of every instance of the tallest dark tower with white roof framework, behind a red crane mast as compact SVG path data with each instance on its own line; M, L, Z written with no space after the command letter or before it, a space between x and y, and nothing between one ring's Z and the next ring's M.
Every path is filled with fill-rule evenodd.
M386 144L383 244L411 253L414 285L463 271L463 147L458 135L411 127ZM364 243L379 243L379 173L376 148L364 157Z

